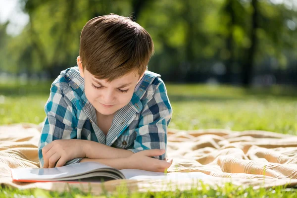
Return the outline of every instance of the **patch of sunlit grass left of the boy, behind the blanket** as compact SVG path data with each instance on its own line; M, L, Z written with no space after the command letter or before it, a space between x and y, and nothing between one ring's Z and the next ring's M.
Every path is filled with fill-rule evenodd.
M49 89L49 82L0 84L0 124L42 122Z

